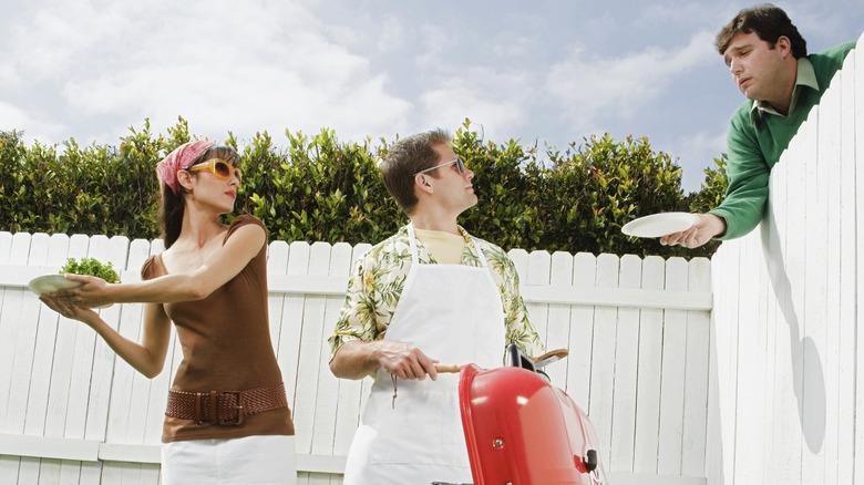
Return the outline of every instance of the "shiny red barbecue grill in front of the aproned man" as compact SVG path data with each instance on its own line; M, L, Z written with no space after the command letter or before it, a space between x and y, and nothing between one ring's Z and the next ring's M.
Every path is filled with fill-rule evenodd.
M474 485L608 484L590 421L542 370L566 354L532 362L511 345L507 367L462 367L459 401Z

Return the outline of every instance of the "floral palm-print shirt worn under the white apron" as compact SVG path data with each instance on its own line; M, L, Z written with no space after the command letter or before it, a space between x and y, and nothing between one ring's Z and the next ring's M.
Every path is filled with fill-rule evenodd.
M472 237L462 227L459 230L465 238L462 264L481 266ZM528 355L543 353L543 344L534 326L528 321L528 311L520 295L516 267L500 247L482 239L476 241L488 261L492 277L501 292L507 343L516 343ZM420 264L438 264L422 241L418 240L416 246ZM408 226L403 226L395 235L372 247L357 261L348 282L348 291L339 321L336 323L336 331L328 339L331 359L344 342L351 340L371 342L383 339L410 269L411 244Z

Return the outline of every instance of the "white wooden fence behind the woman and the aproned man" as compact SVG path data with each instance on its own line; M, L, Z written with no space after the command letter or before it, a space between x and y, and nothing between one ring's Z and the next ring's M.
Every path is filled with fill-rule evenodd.
M272 342L292 402L299 482L338 484L367 381L329 371L352 259L368 245L270 245ZM112 261L138 278L161 241L0 233L0 483L156 484L165 399L181 360L137 374L88 327L59 318L24 286L66 257ZM706 483L710 261L511 252L532 320L570 357L553 381L585 407L618 484ZM103 318L141 332L138 305Z

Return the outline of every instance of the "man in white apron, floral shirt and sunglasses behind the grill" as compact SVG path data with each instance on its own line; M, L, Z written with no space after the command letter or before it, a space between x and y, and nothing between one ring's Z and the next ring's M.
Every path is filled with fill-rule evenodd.
M399 141L381 172L411 223L358 261L329 339L336 376L374 378L344 484L470 483L459 375L434 364L494 368L507 342L542 345L513 261L456 223L477 196L449 136Z

